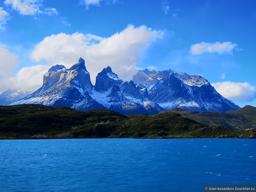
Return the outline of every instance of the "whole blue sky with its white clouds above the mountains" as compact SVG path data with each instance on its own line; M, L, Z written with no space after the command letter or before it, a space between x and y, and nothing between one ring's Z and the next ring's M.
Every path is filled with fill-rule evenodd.
M199 74L239 106L256 106L256 1L5 0L0 92L36 90L54 64L86 60L124 80L138 69Z

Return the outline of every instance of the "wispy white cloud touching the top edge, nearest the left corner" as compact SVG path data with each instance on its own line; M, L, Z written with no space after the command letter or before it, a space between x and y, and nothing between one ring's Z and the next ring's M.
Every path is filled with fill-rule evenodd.
M11 5L13 9L19 11L22 15L35 15L35 14L58 14L55 8L45 8L41 10L42 4L39 0L5 0L4 3Z

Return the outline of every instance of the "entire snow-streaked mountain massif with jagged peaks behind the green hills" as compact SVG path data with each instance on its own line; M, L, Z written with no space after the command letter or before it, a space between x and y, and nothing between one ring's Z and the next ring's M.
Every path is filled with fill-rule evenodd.
M139 70L128 82L108 66L97 75L93 86L82 58L70 69L52 66L44 74L40 89L9 105L17 104L67 106L81 111L102 108L124 115L157 114L176 107L190 111L240 108L217 93L203 77L172 70Z

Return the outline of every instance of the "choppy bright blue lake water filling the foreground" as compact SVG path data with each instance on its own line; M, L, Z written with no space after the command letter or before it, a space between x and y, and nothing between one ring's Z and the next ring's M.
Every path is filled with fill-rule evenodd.
M0 191L202 191L255 184L253 139L0 140Z

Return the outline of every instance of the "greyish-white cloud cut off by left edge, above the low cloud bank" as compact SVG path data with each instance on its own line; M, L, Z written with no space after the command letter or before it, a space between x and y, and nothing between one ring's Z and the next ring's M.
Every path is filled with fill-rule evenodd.
M18 56L10 53L4 45L0 44L0 78L12 76L13 69L17 66Z

